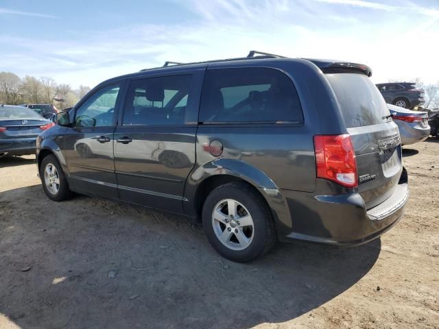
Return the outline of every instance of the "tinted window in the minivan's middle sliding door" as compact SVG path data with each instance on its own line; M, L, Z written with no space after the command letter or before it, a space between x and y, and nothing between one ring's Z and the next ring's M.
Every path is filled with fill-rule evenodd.
M130 84L123 125L184 125L191 75L150 77Z

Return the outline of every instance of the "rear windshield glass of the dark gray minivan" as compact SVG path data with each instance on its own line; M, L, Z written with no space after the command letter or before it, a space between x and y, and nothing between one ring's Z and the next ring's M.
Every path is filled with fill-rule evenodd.
M340 103L346 127L377 125L391 120L383 96L366 75L334 73L326 77Z

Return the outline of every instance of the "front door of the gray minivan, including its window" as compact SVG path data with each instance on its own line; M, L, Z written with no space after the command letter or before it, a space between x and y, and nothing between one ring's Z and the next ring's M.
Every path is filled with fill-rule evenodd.
M99 88L75 110L64 135L73 191L117 198L113 137L120 83Z

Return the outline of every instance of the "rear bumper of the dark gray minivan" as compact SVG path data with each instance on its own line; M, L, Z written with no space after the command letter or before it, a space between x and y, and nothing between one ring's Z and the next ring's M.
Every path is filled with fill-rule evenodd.
M298 239L332 245L361 245L390 230L403 216L409 197L407 171L404 169L393 195L368 210L358 193L308 196L306 204L298 202L297 195L286 194L292 227L288 231L281 226L281 241Z

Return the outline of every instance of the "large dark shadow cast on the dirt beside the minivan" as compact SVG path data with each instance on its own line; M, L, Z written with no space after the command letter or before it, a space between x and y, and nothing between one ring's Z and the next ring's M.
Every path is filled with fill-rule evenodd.
M27 199L26 204L19 199ZM233 263L202 228L94 197L0 193L0 315L20 328L249 328L292 320L358 282L379 239L355 248L280 243Z

